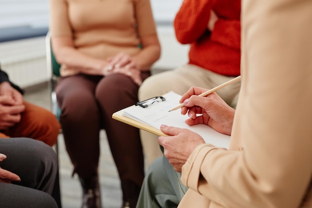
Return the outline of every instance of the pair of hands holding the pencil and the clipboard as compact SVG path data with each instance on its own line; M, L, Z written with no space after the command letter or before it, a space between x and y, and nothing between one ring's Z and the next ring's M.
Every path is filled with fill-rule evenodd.
M184 106L181 114L187 113L187 125L206 124L214 130L231 135L235 110L228 106L216 93L206 97L195 96L207 89L191 87L180 99ZM198 115L198 116L197 116ZM164 149L164 156L168 159L174 170L181 172L194 149L204 144L203 138L188 129L161 125L160 130L169 136L158 137L158 143Z

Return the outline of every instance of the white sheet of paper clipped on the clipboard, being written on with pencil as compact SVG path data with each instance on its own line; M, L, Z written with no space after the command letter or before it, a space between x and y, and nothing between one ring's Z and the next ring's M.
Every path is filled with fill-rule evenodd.
M157 129L160 129L161 124L189 129L199 134L206 143L216 147L229 148L230 136L221 134L204 124L188 126L184 122L188 119L188 116L182 115L179 109L168 112L170 109L180 104L180 95L171 91L162 96L166 99L165 101L156 102L147 108L141 106L126 108L123 115Z

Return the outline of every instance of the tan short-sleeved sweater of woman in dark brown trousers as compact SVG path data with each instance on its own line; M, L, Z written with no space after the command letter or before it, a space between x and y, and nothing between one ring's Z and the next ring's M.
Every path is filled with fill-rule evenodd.
M156 34L150 0L50 0L51 36L70 35L75 47L95 58L135 55L140 37ZM75 74L61 66L61 75Z

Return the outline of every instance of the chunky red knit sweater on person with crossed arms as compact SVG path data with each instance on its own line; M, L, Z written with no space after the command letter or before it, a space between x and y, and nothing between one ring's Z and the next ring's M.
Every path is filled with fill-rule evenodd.
M210 9L218 16L207 28ZM177 40L190 44L189 63L226 76L240 74L241 0L184 0L174 19Z

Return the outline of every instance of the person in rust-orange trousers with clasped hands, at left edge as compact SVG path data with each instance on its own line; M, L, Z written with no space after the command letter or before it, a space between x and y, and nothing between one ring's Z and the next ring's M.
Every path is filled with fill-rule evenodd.
M0 69L0 138L29 137L53 146L60 124L48 110L23 100L23 91Z

